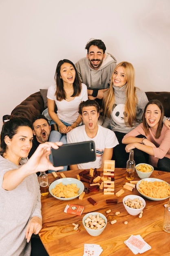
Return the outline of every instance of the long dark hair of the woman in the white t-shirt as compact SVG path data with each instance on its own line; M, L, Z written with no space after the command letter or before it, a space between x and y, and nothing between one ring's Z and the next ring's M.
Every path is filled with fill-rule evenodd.
M55 79L56 85L57 85L57 90L55 92L55 96L57 98L57 101L62 101L63 99L66 99L66 92L64 91L63 81L62 81L62 78L60 78L60 70L61 70L61 65L63 63L70 63L75 69L75 80L73 82L74 92L73 92L73 95L71 95L71 97L79 96L79 94L81 93L81 90L82 90L82 83L79 80L79 75L77 73L77 70L76 70L75 65L73 64L73 62L69 61L69 60L66 60L66 59L61 60L57 64L57 68L56 68L55 76L54 76L54 79Z

